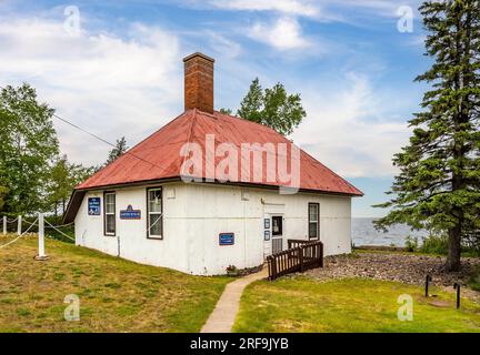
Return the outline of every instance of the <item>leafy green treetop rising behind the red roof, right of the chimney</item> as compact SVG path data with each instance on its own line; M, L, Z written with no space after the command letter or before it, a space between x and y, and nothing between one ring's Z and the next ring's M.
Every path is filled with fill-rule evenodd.
M300 94L289 95L281 83L263 90L256 78L240 103L237 115L266 124L280 134L288 135L300 124L306 111Z

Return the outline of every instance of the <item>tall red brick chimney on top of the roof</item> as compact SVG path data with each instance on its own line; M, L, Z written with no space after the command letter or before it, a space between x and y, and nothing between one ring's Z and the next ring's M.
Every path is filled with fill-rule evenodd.
M186 110L213 113L213 62L199 52L183 58Z

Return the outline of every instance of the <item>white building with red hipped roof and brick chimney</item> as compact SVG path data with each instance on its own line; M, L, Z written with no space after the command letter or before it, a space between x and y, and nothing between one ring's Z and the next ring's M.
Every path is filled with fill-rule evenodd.
M289 239L350 253L362 193L273 130L213 111L213 60L183 61L186 111L73 191L76 243L198 275L258 266Z

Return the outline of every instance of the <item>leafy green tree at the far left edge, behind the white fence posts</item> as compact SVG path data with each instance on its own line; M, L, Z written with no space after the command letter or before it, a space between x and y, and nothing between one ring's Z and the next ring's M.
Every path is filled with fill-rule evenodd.
M58 154L52 114L27 83L0 92L0 184L9 189L6 211L24 214L46 205L50 164Z

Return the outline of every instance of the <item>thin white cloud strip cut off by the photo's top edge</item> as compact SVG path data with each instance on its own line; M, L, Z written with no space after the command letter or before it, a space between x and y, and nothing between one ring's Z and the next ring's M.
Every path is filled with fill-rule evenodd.
M297 0L211 0L211 4L221 9L248 11L277 11L286 14L316 17L318 7L311 1Z

